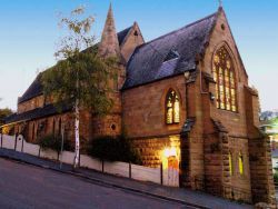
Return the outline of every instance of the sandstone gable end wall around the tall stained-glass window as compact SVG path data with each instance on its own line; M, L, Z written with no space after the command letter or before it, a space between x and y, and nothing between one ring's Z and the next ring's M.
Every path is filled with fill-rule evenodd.
M231 112L218 109L216 107L216 101L211 100L209 94L209 92L216 94L215 83L202 79L202 89L200 90L202 91L202 121L206 141L206 189L212 193L221 195L231 199L251 201L247 123L252 123L254 120L248 121L246 113L247 103L245 98L245 87L248 86L248 76L242 66L241 58L238 53L237 46L224 12L219 13L215 29L208 40L203 60L199 63L199 68L203 74L209 73L212 77L214 53L221 46L227 48L234 61L238 111ZM221 126L226 129L227 135L211 137L215 132L220 131L214 126L211 119L220 121ZM211 152L211 147L216 147L216 150L218 151ZM244 176L240 176L237 170L238 155L240 151L245 159ZM236 169L232 175L229 173L229 152L232 153L232 165Z

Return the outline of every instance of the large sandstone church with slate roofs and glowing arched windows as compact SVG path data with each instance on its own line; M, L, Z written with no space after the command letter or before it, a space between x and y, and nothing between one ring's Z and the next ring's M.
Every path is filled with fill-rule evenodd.
M258 129L258 92L248 86L222 8L145 42L136 22L117 33L110 7L98 50L122 60L115 106L102 118L81 112L81 145L125 131L145 166L159 166L163 151L175 150L180 187L247 202L271 200L270 147ZM72 110L58 113L44 99L40 78L18 99L3 132L36 142L63 126L73 141Z

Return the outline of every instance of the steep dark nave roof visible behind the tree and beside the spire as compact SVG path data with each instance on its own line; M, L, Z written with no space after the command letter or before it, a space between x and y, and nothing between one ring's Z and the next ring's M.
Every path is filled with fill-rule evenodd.
M120 32L118 32L118 40L119 44L121 46L122 41L126 39L127 34L129 33L130 29L132 27L129 27ZM89 50L88 50L89 51ZM18 99L18 103L22 103L24 101L28 101L34 97L42 94L42 84L40 82L41 73L38 74L38 77L34 79L34 81L31 83L31 86L27 89L27 91Z

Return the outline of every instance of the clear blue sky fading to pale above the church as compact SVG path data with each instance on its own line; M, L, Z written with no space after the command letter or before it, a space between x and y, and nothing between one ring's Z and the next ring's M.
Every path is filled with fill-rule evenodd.
M56 63L62 31L58 13L86 6L100 39L110 0L1 0L0 108L17 110L18 97L39 71ZM222 0L249 84L260 93L262 110L278 109L278 1ZM139 23L146 41L217 11L218 0L112 0L117 31Z

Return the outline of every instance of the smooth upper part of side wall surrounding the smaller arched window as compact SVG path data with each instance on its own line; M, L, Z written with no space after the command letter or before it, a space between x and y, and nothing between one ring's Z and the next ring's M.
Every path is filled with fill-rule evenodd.
M166 97L173 89L180 97L180 122L166 123ZM186 120L185 77L179 76L122 92L123 130L129 138L156 138L180 133Z

